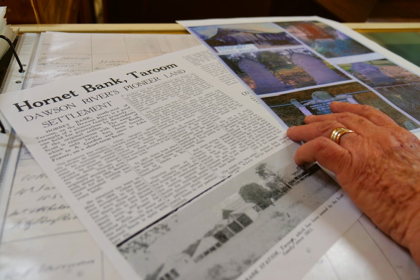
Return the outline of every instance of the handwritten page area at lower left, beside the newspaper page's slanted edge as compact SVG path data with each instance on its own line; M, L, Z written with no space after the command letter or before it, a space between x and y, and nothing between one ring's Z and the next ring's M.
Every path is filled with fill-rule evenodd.
M0 251L2 279L100 275L101 251L24 149L10 196Z

